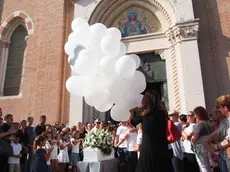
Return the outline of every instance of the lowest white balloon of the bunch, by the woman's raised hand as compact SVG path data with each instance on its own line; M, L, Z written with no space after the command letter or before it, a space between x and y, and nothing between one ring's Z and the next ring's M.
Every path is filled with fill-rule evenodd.
M111 118L115 121L128 121L130 117L129 110L124 105L114 105L111 109Z

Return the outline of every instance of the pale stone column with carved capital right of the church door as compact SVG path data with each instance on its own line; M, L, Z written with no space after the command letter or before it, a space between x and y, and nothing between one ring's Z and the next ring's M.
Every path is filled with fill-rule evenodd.
M196 106L205 107L203 81L197 44L199 25L197 20L178 23L170 28L174 46L179 85L181 113Z

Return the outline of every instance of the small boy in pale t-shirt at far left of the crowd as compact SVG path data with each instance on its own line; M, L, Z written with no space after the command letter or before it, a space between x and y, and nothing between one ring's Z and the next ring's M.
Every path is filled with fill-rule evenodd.
M22 145L18 143L19 136L14 135L12 138L11 146L13 148L13 155L9 157L8 164L9 164L9 172L20 172L20 158L21 158L21 151Z

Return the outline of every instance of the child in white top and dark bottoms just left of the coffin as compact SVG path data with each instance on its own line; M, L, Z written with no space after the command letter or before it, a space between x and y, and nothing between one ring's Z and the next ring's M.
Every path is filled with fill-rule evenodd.
M77 171L77 162L80 161L79 149L81 145L80 133L75 131L72 133L72 138L70 139L72 145L72 152L70 155L70 165L72 166L72 171Z

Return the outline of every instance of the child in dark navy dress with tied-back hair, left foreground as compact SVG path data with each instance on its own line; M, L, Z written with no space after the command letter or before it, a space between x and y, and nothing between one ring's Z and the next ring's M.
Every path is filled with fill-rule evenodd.
M36 149L34 172L50 172L47 161L50 159L50 154L54 147L50 147L48 150L44 149L46 138L43 135L36 137L34 142L34 148Z

